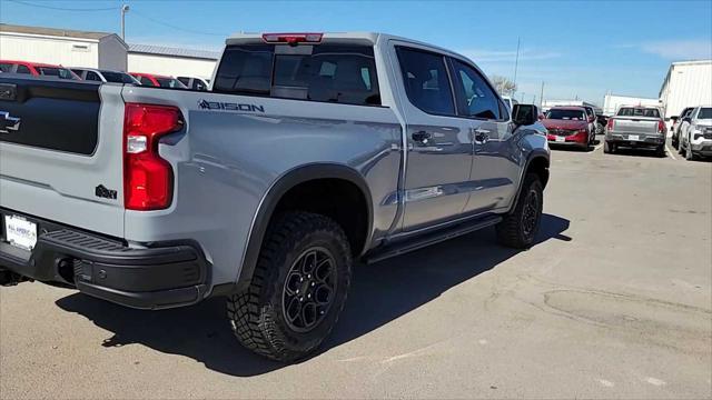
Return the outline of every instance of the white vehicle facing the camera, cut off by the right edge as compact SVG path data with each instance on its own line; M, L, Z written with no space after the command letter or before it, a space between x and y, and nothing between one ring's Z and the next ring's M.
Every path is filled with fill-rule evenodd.
M695 107L683 118L679 147L686 160L712 156L712 106Z

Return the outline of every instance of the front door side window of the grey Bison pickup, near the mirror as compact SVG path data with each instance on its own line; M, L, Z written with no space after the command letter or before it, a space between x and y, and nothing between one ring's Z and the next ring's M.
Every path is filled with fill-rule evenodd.
M462 116L498 120L500 100L485 79L474 68L453 60L457 111Z

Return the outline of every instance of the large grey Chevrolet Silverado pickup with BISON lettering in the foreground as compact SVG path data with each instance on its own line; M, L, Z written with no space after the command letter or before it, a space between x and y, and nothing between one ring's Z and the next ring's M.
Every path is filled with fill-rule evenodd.
M0 279L140 309L226 297L240 343L294 361L354 262L491 226L531 247L535 122L463 56L379 33L231 37L207 92L2 74Z

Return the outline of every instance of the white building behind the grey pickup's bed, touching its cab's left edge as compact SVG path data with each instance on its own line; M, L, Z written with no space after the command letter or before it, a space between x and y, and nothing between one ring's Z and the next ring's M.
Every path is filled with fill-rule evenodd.
M210 79L219 57L218 51L129 44L128 69L130 72Z

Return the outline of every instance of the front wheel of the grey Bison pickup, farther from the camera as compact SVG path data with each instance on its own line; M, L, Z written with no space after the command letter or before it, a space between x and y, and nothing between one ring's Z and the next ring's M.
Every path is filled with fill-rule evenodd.
M536 196L537 201L535 204L535 224L533 229L525 229L525 209L530 201L530 194ZM542 210L544 204L544 189L538 176L535 173L527 173L524 177L524 184L522 184L522 191L517 197L514 210L512 210L504 219L497 223L497 241L514 249L528 249L534 244L536 233L542 221ZM531 204L528 204L531 206Z

